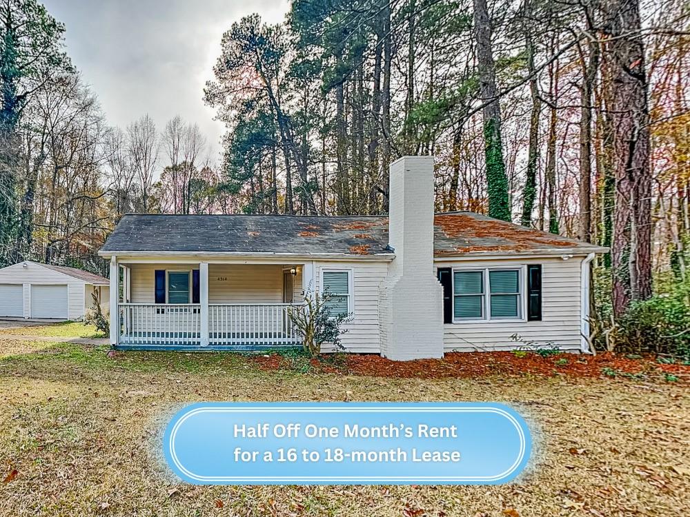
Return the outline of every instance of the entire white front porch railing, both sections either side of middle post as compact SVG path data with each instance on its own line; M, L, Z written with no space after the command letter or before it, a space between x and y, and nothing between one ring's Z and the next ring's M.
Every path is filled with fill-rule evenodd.
M209 345L298 345L289 303L208 305ZM119 343L124 345L201 345L198 303L119 303Z

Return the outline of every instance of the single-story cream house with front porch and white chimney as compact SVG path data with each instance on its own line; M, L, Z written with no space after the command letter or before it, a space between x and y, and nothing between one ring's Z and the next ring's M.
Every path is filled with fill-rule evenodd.
M589 263L605 248L433 204L433 157L406 156L391 165L387 216L128 214L99 251L110 343L299 345L288 307L328 289L331 311L352 315L350 352L587 351Z

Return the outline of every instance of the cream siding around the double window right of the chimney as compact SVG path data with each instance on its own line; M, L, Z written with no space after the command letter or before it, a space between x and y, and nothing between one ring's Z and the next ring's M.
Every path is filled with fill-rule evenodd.
M514 349L522 345L511 339L518 334L524 341L538 345L555 343L563 349L580 349L580 265L582 257L564 261L549 259L506 259L457 262L437 262L436 267L484 267L508 265L542 265L542 321L446 323L444 349L451 351L479 351L484 349Z

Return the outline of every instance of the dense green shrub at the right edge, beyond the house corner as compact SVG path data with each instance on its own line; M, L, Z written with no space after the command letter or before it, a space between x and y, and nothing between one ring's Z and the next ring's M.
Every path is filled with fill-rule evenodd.
M690 280L664 281L658 294L632 303L618 321L616 350L690 358Z

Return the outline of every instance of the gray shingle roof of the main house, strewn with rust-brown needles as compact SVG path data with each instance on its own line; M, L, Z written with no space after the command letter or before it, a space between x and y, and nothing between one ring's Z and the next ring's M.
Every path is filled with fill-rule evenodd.
M388 216L127 214L102 254L208 252L390 255ZM435 256L603 251L473 212L436 214Z

